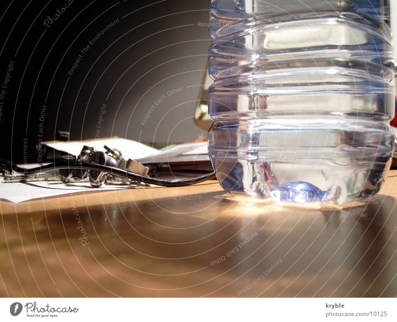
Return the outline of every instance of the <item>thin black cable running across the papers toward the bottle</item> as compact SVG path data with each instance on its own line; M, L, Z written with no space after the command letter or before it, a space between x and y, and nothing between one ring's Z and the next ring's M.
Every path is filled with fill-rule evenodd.
M182 186L190 186L194 184L198 184L199 182L203 182L210 179L216 179L215 172L207 173L205 175L195 177L195 178L188 178L188 179L175 179L175 180L163 180L157 178L151 178L146 176L140 176L135 173L109 167L102 164L95 164L95 163L85 163L80 161L59 161L47 164L45 166L26 169L18 167L15 163L2 160L0 159L0 166L6 168L9 172L13 170L15 172L19 172L23 175L33 175L41 172L53 171L53 170L60 170L60 169L77 169L77 170L91 170L91 171L103 171L106 173L110 173L113 175L117 175L120 177L128 178L134 181L143 182L145 184L156 185L156 186L163 186L163 187L182 187Z

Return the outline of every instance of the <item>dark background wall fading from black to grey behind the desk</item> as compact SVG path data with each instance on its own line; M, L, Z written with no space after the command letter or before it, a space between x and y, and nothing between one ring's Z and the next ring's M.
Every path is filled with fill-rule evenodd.
M103 103L101 138L152 144L205 135L193 114L207 68L210 39L199 25L208 21L209 0L73 0L45 26L67 2L1 1L0 86L15 62L1 110L1 158L26 161L27 142L35 161L39 139L53 140L58 130L69 131L70 139L94 138ZM118 18L68 75L81 50ZM177 87L183 90L167 96ZM167 99L141 126L162 95Z

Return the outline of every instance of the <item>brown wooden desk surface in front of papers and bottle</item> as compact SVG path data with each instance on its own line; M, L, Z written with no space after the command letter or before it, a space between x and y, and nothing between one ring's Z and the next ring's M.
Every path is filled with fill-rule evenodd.
M331 210L216 181L1 201L0 295L395 297L396 187L391 171L369 203Z

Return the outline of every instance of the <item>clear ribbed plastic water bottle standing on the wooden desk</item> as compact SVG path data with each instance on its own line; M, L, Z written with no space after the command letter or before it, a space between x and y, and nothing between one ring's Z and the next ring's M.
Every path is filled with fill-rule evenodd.
M394 149L389 0L214 0L210 34L223 189L337 204L379 191Z

